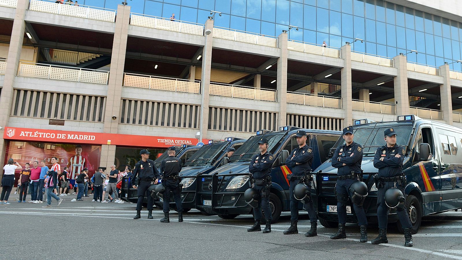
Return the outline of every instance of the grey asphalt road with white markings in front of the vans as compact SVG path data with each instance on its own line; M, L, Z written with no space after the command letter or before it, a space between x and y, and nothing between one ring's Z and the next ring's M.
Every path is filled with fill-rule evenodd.
M56 207L45 204L16 203L0 205L0 259L409 259L462 260L462 212L446 212L427 217L413 236L414 247L404 247L404 237L394 224L389 226L389 243L359 243L359 228L347 225L347 239L330 240L336 229L318 224L318 236L307 238L307 214L301 214L299 234L283 235L290 221L284 212L272 232L246 232L253 223L251 215L232 220L203 216L192 210L177 222L170 212L170 224L160 223L163 213L154 210L153 220L134 220L134 204L71 202L75 195L63 197ZM15 200L16 199L16 200ZM369 227L369 240L377 227Z

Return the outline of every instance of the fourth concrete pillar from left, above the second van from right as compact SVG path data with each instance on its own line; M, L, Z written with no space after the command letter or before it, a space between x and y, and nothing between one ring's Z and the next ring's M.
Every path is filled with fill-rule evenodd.
M276 79L276 99L279 108L277 127L281 127L287 125L287 33L283 32L278 36L278 47L280 56Z

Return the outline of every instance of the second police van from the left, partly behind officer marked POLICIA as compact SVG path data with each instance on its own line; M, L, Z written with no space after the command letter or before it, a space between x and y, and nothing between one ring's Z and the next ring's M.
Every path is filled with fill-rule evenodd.
M214 142L210 140L207 145L204 145L194 153L192 157L189 157L182 165L181 172L179 174L181 179L182 191L181 199L183 212L188 212L192 208L195 208L195 193L196 186L195 180L198 174L207 174L220 166L225 165L228 158L225 157L228 148L238 149L245 140L227 137L225 141ZM163 206L162 199L154 202L157 207ZM170 207L173 209L176 207L173 196L170 196Z

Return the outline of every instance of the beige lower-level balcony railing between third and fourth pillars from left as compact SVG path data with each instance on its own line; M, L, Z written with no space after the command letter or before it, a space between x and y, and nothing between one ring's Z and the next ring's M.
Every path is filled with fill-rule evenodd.
M210 82L210 95L276 102L276 91Z

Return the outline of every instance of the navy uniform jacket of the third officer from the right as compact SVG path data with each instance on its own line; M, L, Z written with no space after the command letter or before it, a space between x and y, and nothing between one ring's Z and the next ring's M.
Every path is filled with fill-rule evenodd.
M300 164L297 164L300 163ZM311 171L313 164L313 148L308 145L302 148L297 147L293 149L292 153L286 159L286 165L292 171L292 175L306 175Z

